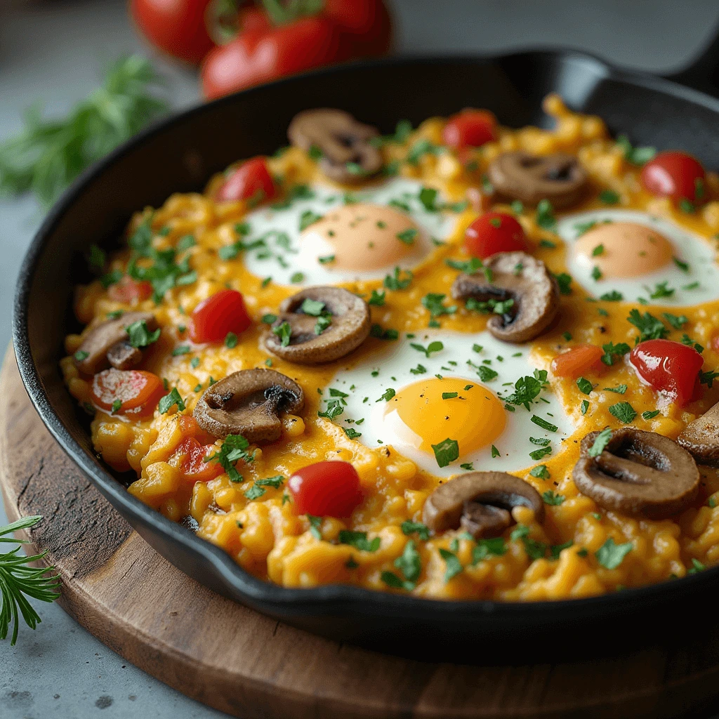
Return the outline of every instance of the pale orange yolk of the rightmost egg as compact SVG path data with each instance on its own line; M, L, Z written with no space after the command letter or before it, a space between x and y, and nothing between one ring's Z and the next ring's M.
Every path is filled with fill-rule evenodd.
M635 222L606 222L585 232L574 252L599 267L605 278L641 277L671 262L672 243L655 229Z

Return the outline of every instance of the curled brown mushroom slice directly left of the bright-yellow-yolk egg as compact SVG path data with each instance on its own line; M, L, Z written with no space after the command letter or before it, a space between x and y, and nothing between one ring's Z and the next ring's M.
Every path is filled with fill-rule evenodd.
M239 370L206 389L193 411L216 437L242 434L249 442L272 442L282 432L281 413L304 406L301 387L275 370Z

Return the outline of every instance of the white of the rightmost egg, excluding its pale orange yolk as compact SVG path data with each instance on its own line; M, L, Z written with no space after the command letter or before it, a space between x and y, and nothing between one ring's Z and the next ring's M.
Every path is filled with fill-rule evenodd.
M669 262L661 270L641 277L594 280L592 278L594 265L591 258L578 255L574 251L574 242L580 236L577 225L590 221L599 224L605 220L636 222L661 232L674 246L674 257L686 262L689 269L684 272L675 262ZM569 274L597 299L612 290L622 293L626 302L640 301L649 305L692 306L719 298L719 266L715 262L713 247L710 247L706 239L691 234L664 219L645 212L595 210L562 218L557 224L557 234L567 243ZM661 282L667 282L667 288L673 289L674 294L671 297L652 299L651 291ZM696 288L687 289L687 286L697 282L699 285Z

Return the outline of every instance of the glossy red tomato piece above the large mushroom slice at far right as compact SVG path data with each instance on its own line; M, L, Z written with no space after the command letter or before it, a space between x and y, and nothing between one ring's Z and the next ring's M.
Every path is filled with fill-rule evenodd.
M652 389L683 407L695 396L704 364L694 347L670 339L648 339L629 353L629 362Z

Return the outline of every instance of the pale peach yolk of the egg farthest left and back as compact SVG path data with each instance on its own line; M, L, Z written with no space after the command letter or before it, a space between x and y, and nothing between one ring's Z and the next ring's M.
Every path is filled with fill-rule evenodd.
M355 203L328 212L306 227L302 242L327 247L329 270L362 272L393 267L413 254L420 232L411 218L383 205Z

